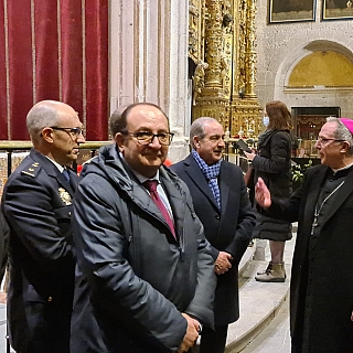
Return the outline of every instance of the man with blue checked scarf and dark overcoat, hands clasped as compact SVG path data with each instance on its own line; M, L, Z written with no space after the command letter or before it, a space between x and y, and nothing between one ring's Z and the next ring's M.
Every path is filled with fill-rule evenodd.
M222 160L224 130L213 118L199 118L190 128L192 152L171 169L188 184L195 212L213 246L217 275L215 330L204 328L201 353L224 352L228 323L239 318L238 264L255 225L242 170Z

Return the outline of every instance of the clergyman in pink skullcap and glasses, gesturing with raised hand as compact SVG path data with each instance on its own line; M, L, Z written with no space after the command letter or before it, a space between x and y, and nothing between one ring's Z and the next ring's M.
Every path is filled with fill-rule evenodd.
M317 141L321 164L308 169L289 200L259 179L261 212L298 221L290 284L293 353L353 350L353 120L327 118Z

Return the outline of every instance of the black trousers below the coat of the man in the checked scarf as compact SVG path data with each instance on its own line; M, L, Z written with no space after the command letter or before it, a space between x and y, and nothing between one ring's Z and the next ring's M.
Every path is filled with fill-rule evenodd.
M215 330L203 328L200 353L223 353L227 340L228 325L215 325Z

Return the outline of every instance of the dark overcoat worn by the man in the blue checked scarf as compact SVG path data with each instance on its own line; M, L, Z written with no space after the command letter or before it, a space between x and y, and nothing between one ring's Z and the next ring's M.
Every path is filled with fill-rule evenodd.
M195 212L213 247L214 260L220 252L229 253L234 257L232 269L217 276L214 302L215 324L234 322L239 318L238 264L252 238L256 218L252 212L243 172L237 165L222 161L218 175L222 204L220 211L192 154L173 164L171 169L190 189Z

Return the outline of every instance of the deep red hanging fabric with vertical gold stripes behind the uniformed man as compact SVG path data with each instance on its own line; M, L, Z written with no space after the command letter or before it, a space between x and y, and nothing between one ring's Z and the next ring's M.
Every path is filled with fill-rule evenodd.
M108 0L0 4L0 139L28 140L29 109L55 99L78 111L87 140L106 140Z

